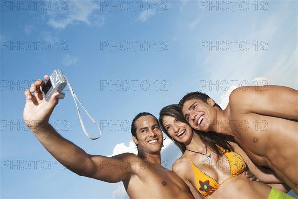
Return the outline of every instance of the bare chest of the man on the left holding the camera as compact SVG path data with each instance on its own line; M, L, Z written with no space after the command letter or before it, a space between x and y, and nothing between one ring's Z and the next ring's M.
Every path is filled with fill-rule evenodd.
M124 187L131 199L193 199L184 181L173 171L134 158L134 174Z

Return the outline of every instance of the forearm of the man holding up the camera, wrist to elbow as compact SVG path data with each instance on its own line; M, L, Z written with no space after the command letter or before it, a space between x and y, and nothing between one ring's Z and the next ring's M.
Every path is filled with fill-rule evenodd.
M31 131L53 157L74 173L84 175L92 167L89 155L63 138L51 125Z

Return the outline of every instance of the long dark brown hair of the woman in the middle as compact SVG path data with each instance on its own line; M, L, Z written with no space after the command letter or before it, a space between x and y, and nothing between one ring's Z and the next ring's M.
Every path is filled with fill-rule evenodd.
M189 125L188 122L180 114L177 104L166 106L161 109L159 113L159 124L162 131L178 146L181 152L184 153L186 150L185 145L173 139L165 129L165 126L162 123L165 116L172 116L178 119L180 122ZM199 135L202 142L205 143L208 148L212 149L217 154L217 157L223 156L224 153L216 146L216 144L228 151L234 151L230 143L224 138L224 135L215 132L201 132L195 129L193 129L193 131Z

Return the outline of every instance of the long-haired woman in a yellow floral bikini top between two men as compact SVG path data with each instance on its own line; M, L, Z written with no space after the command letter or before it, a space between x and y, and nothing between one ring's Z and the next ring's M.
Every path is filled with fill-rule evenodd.
M262 182L281 185L272 170L260 169L236 143L212 132L193 130L180 115L177 105L164 107L159 122L183 153L172 169L195 198L294 199L267 184L248 179L245 169L249 166Z

